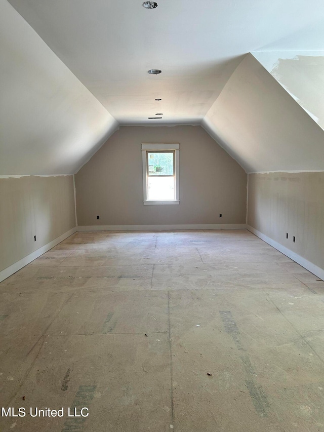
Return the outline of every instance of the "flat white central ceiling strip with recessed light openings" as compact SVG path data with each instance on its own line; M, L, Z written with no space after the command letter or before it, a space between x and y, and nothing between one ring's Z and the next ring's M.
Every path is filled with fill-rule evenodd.
M200 122L242 55L286 50L324 19L322 0L158 0L152 10L142 0L9 1L120 124L157 112L157 123ZM313 39L299 44L314 49Z

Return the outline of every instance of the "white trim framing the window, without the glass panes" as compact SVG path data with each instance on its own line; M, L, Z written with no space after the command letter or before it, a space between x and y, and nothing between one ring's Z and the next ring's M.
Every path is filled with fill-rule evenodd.
M147 150L175 150L175 200L170 201L149 201L147 199L147 172L146 172L146 151ZM179 200L179 143L164 143L164 142L145 142L142 143L142 162L143 162L143 204L151 205L177 205Z

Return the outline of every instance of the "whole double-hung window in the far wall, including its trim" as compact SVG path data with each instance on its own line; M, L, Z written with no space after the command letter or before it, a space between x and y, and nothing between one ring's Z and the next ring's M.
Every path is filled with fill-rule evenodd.
M179 144L145 143L142 153L144 205L179 204Z

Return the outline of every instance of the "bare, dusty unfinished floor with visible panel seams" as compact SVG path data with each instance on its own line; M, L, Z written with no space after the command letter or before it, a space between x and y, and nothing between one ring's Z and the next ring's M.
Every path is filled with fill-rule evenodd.
M324 282L249 231L77 232L0 293L1 432L324 431Z

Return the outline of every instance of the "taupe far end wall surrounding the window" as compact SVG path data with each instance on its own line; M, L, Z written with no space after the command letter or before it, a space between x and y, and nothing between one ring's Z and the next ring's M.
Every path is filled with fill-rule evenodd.
M142 142L180 143L180 205L143 205ZM78 225L246 222L247 174L200 126L121 127L75 186Z

